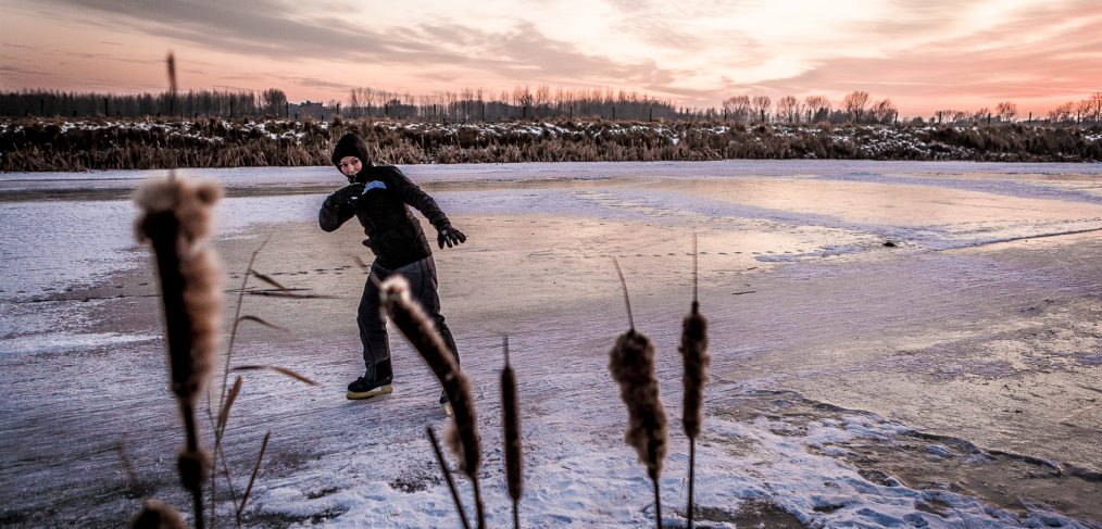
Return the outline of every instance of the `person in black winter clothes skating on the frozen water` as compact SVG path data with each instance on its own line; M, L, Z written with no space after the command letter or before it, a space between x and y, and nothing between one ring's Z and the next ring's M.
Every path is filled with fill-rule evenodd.
M428 193L411 182L398 168L375 165L367 154L367 143L356 133L346 133L333 148L333 164L348 179L348 185L337 190L322 203L317 220L322 229L333 231L355 216L364 226L364 245L375 253L370 276L364 284L356 324L364 344L364 376L348 385L349 399L367 399L390 393L393 373L386 320L380 311L379 283L401 274L410 284L410 293L435 323L444 344L460 359L452 331L440 313L436 292L436 263L432 248L413 216L413 206L436 228L436 242L443 249L466 241L462 231L452 227L447 216ZM372 280L371 278L375 278ZM447 403L441 393L442 404Z

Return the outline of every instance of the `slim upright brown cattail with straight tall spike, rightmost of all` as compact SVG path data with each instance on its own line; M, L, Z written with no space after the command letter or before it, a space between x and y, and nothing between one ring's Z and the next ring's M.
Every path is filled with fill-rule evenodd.
M693 484L696 467L696 436L704 421L704 384L707 382L707 366L712 358L707 354L707 320L700 314L700 303L696 300L696 234L692 237L692 309L681 324L681 358L684 363L684 400L681 424L689 438L689 527L693 521Z

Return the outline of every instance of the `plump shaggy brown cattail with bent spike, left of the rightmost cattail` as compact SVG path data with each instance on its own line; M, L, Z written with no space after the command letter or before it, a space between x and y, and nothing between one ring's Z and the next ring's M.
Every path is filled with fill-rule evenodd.
M627 300L627 282L615 258L616 271L624 287ZM630 307L630 305L628 305ZM662 503L659 493L659 477L668 444L666 410L659 397L658 379L655 377L655 345L634 325L616 338L608 352L608 370L619 384L620 399L628 411L627 431L624 441L635 447L639 462L647 465L647 475L655 485L656 522L662 527Z

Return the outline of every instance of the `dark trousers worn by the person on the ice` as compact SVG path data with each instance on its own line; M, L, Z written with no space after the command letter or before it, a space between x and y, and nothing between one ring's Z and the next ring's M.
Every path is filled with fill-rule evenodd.
M421 304L421 309L436 325L436 332L444 339L444 345L452 349L457 364L460 352L455 348L455 338L452 337L452 331L444 323L444 316L440 314L440 294L436 293L436 261L430 256L395 270L387 270L378 263L371 263L371 276L378 280L378 283L393 274L400 274L409 281L410 298ZM364 343L364 365L369 371L379 363L390 359L387 321L379 299L378 283L370 279L367 280L367 284L364 285L364 295L359 299L359 313L356 317L356 324L359 325L359 341Z

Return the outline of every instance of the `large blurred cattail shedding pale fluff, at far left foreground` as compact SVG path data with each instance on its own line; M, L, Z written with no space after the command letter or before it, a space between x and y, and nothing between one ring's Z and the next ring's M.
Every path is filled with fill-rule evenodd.
M170 388L186 434L177 465L184 488L192 493L198 528L204 527L207 455L198 443L195 402L210 377L222 317L220 271L206 245L210 210L220 193L215 183L177 179L147 182L134 196L141 209L134 222L138 240L149 242L156 259Z

